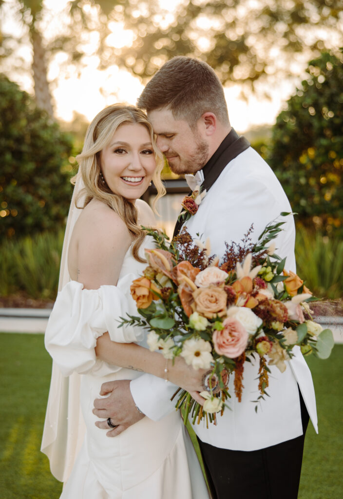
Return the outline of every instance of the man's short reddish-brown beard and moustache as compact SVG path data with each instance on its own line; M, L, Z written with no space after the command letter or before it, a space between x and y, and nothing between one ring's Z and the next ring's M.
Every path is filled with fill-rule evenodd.
M209 160L208 144L199 140L195 143L195 152L192 154L179 155L172 150L168 150L166 153L170 169L173 173L177 175L182 175L184 173L195 173L201 170L203 166Z

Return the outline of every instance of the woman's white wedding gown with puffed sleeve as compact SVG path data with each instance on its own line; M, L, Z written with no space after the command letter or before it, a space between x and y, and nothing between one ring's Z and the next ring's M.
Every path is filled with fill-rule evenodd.
M143 249L152 241L147 238ZM147 347L146 333L118 319L136 313L130 284L146 264L126 253L117 286L83 289L68 282L58 293L45 345L65 376L81 373L80 400L86 434L62 499L208 499L199 462L176 411L161 421L145 417L115 438L95 426L93 401L105 381L133 379L136 371L96 358L96 339L108 331L113 341Z

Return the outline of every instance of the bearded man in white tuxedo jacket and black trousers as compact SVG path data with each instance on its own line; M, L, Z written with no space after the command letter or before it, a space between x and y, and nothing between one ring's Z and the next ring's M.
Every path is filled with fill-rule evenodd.
M255 242L269 222L291 212L269 166L231 127L223 88L210 66L174 57L147 84L138 105L146 109L171 170L197 172L206 189L185 225L192 237L209 238L212 254L223 256L225 241L240 242L252 223ZM277 253L287 257L285 268L295 271L294 222L287 220ZM294 353L284 373L270 366L269 397L257 413L252 401L258 396L258 363L246 362L241 402L233 396L217 426L194 425L213 498L297 498L309 415L316 431L317 416L311 373L299 347ZM116 436L144 415L159 420L174 410L173 391L173 385L149 374L105 383L102 394L110 395L96 400L93 412L118 424L110 433Z

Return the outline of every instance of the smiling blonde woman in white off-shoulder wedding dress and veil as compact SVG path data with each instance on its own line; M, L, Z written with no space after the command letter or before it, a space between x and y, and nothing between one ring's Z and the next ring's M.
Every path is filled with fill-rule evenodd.
M188 391L202 390L199 373L181 358L166 365L161 354L144 348L142 329L120 328L118 322L136 311L130 284L146 266L144 248L154 247L140 227L154 224L153 213L139 199L152 179L158 197L163 192L163 156L152 126L136 107L107 107L90 124L77 159L73 198L82 210L76 210L80 214L75 216L71 208L64 271L69 279L63 279L45 333L54 362L42 450L49 455L52 471L58 470L58 478L65 480L65 470L73 465L62 499L208 498L178 413L158 422L142 415L115 439L95 426L92 413L103 382L130 380L142 371ZM97 351L104 350L106 355L97 357ZM61 374L70 377L69 385ZM86 431L74 462L83 424L78 400ZM108 420L109 429L114 423Z

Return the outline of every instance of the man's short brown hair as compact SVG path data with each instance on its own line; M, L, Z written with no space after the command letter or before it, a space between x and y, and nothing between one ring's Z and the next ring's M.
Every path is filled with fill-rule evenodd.
M166 62L149 81L138 101L148 113L168 107L175 119L194 125L205 112L229 123L224 90L206 62L177 56Z

